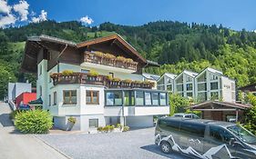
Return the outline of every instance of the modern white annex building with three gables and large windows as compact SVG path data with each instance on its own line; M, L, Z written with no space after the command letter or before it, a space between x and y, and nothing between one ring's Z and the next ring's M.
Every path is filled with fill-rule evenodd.
M220 100L236 101L236 84L222 72L207 67L198 73L184 70L179 75L164 74L158 80L158 89L191 97L198 102Z

